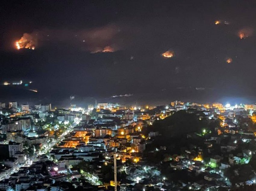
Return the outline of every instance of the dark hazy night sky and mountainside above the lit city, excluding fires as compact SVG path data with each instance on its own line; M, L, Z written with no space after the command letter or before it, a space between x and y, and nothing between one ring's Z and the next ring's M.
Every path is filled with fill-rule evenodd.
M0 14L0 81L32 80L38 90L1 85L4 101L256 100L255 1L2 0ZM24 33L35 50L15 47Z

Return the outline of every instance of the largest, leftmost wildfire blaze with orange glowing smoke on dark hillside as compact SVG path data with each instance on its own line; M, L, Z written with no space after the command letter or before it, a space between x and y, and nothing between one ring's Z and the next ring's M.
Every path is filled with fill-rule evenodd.
M21 48L28 48L34 50L36 44L36 39L34 39L32 35L29 35L27 33L24 33L20 40L15 42L15 46L18 50L20 50Z

